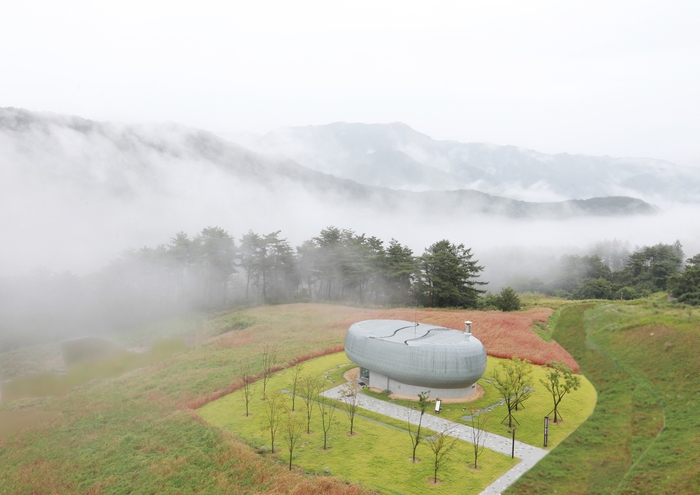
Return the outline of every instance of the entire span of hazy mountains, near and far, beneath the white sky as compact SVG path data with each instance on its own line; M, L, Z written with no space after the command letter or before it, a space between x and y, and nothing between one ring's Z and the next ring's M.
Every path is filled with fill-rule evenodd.
M183 191L190 200L216 202L217 195L255 186L257 194L275 197L275 205L293 205L303 195L321 208L332 203L367 212L569 218L653 213L656 208L641 199L609 193L625 184L644 189L652 183L670 191L684 177L671 175L672 166L664 162L435 141L404 124L285 128L262 137L257 148L274 154L177 124L126 126L0 109L5 187L31 189L32 182L44 181L93 205L154 194L172 199ZM197 178L214 172L223 174L216 189L198 190ZM546 184L557 194L587 199L527 202L461 188L505 190L516 183ZM604 197L591 198L594 191Z

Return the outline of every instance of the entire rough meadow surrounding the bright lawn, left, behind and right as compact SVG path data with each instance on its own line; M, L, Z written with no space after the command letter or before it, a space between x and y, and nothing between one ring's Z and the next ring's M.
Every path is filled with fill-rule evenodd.
M512 493L700 492L697 311L655 301L565 306L554 320L556 342L545 343L530 325L546 322L551 313L303 304L213 315L204 322L209 340L201 351L190 347L61 397L0 406L3 418L20 418L26 427L0 435L0 493L367 492L333 478L332 471L312 477L289 472L192 409L235 389L241 360L259 366L265 343L280 343L280 361L292 363L337 349L354 321L414 316L457 328L470 319L480 339L521 357L528 357L523 342L532 336L542 357L549 350L568 356L559 342L596 387L598 404L589 421ZM513 333L520 340L509 338ZM153 334L160 336L167 335ZM9 368L4 357L2 366ZM17 376L11 369L8 375Z

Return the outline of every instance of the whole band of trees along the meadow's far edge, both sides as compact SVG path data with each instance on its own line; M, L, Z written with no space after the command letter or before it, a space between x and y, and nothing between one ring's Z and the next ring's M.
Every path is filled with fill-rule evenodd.
M464 245L439 240L420 255L328 227L299 246L280 231L235 239L219 227L123 252L85 276L38 270L0 278L0 350L42 340L121 331L185 311L231 305L330 301L388 306L516 310L516 292L572 299L634 299L667 291L700 304L700 255L683 260L679 242L627 250L602 243L596 253L563 256L542 278L486 294L483 267Z

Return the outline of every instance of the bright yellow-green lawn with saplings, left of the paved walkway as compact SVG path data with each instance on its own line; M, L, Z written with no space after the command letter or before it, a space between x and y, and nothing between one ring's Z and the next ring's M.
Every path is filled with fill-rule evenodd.
M344 383L341 373L332 373L354 367L344 352L331 354L303 363L302 376L332 376L326 381L326 388ZM275 374L267 385L268 396L276 391L292 389L293 369L285 369ZM291 407L291 396L284 394L287 407ZM198 410L206 421L221 426L245 439L256 449L271 448L269 433L264 430L265 402L262 400L262 383L253 386L253 399L250 403L250 416L245 416L245 401L242 390L226 395ZM305 403L301 397L295 401L293 416L305 425L307 421ZM303 433L299 446L294 451L295 469L314 475L332 473L346 480L361 483L382 493L430 493L469 494L479 493L499 475L512 467L516 460L491 451L484 451L474 470L473 449L465 442L457 447L445 460L438 472L441 482L430 483L433 476L432 452L427 444L421 443L417 449L420 462L413 464L411 441L404 430L404 421L391 421L378 414L367 414L359 410L354 425L353 436L349 436L349 419L344 411L336 410L333 425L329 432L328 449L323 449L323 431L319 411L314 403L311 409L311 433ZM284 419L283 419L284 422ZM281 430L284 428L284 424ZM428 433L428 431L424 432ZM280 465L289 459L289 451L278 431L273 457Z

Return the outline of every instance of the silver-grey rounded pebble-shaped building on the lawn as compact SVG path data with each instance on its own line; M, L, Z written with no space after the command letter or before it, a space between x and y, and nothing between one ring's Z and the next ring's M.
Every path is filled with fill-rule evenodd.
M361 367L370 387L432 398L460 398L473 393L486 371L486 349L467 331L403 320L354 323L345 336L345 353Z

